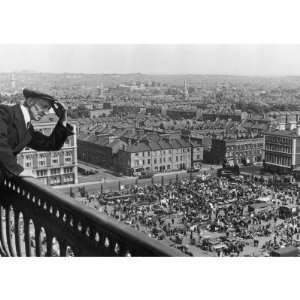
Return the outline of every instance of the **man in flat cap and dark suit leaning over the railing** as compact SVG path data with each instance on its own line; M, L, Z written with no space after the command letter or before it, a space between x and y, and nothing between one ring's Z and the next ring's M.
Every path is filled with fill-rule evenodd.
M17 163L16 155L25 147L37 151L59 150L73 128L67 124L67 111L53 97L24 89L25 101L21 105L0 105L0 170L6 176L33 176L31 170ZM35 131L31 121L39 121L52 108L58 122L50 136Z

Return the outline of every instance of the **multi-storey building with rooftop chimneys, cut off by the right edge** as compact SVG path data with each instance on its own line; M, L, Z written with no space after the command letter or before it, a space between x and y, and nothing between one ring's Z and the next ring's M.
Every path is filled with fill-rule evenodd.
M300 124L281 123L278 130L265 133L264 167L271 172L288 174L300 167Z

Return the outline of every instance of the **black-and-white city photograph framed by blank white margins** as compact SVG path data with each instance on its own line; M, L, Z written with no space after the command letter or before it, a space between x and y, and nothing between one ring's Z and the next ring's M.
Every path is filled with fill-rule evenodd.
M0 46L1 255L298 256L299 53Z

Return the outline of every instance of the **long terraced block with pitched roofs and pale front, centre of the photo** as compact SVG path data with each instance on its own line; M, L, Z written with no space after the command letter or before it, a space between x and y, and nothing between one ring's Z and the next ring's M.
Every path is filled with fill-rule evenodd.
M127 175L142 171L166 172L200 167L203 147L180 134L160 134L133 129L119 134L83 135L78 139L78 158Z

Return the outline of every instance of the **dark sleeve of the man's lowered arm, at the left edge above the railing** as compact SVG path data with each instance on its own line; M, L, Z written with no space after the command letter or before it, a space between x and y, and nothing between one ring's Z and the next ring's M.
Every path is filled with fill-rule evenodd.
M24 169L17 163L12 147L8 144L8 124L10 116L5 108L0 108L0 168L8 176L18 176Z

